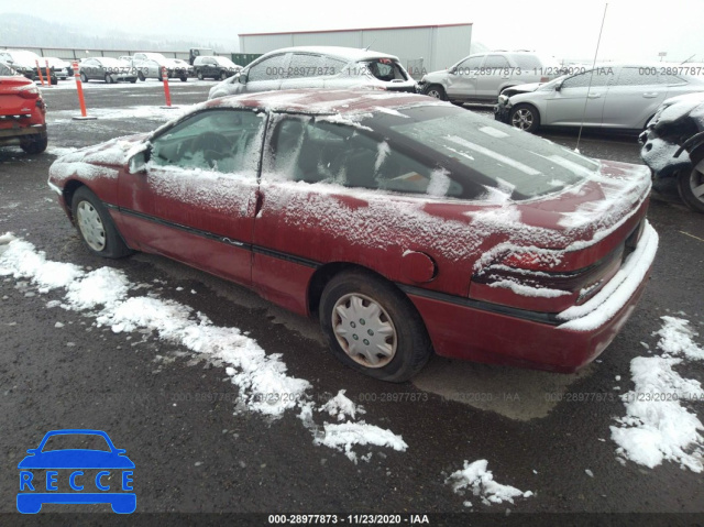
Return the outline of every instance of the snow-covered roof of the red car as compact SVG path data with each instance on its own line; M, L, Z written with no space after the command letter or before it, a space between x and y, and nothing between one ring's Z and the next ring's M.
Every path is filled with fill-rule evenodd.
M309 114L345 114L374 112L380 108L449 105L424 95L389 92L381 89L296 89L262 91L222 97L206 103L207 108L262 108Z

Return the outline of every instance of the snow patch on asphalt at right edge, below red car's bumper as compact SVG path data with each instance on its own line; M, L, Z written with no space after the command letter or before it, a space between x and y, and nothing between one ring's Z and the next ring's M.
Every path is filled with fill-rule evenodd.
M612 439L618 444L619 460L628 459L650 469L663 461L679 463L701 473L704 470L704 425L688 408L686 402L704 402L702 385L685 378L675 366L686 360L704 359L704 349L693 337L689 321L662 317L663 325L653 336L661 355L637 356L630 362L635 388L622 396L626 416L612 426ZM683 404L684 403L684 404Z

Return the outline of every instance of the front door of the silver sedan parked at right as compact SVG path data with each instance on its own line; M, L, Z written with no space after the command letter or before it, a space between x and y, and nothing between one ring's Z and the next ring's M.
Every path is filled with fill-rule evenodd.
M547 96L541 124L601 127L609 81L617 72L596 68L573 75Z

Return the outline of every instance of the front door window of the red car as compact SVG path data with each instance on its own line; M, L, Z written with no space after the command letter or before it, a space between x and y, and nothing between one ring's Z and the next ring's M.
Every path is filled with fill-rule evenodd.
M152 141L156 166L256 177L264 119L253 111L197 113Z

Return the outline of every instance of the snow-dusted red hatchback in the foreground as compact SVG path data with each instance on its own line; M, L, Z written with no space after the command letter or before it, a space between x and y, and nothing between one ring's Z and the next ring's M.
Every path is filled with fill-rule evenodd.
M163 254L317 315L342 362L395 382L433 351L583 366L658 245L647 168L410 94L217 99L50 174L92 253Z

